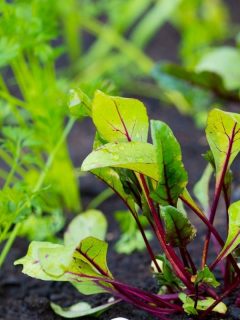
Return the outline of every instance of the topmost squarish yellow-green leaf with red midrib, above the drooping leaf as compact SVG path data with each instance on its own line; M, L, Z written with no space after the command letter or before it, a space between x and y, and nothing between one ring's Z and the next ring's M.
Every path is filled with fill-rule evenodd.
M142 102L95 93L92 105L93 122L108 142L141 141L148 137L148 116Z

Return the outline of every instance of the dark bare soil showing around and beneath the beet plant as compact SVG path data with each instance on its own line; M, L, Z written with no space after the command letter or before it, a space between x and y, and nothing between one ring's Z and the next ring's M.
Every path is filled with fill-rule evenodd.
M234 1L228 1L234 3ZM237 12L237 11L236 11ZM149 53L153 58L171 58L176 59L177 42L179 35L172 30L171 26L166 25L161 30L161 34L154 40L149 48ZM164 41L167 39L168 41ZM164 43L160 48L158 43ZM160 48L159 51L156 48ZM173 54L175 52L175 54ZM199 179L205 166L205 161L201 154L207 150L207 144L202 130L196 129L193 120L182 116L173 108L160 106L156 100L145 100L148 106L151 118L161 119L167 122L173 129L176 137L181 143L183 151L183 160L189 173L190 189ZM236 106L232 106L236 108ZM237 106L238 107L238 106ZM91 145L94 137L94 128L89 120L77 124L70 135L70 152L74 164L80 166L84 157L91 151ZM237 180L240 180L237 176ZM102 183L94 177L87 176L81 179L81 195L83 203L87 204L103 188ZM107 238L110 243L108 264L115 277L146 290L156 290L154 279L151 277L150 260L146 252L137 252L131 256L119 255L114 251L114 242L119 237L118 226L113 218L116 210L124 208L122 202L113 196L101 206L109 220L109 231ZM199 220L191 216L193 223L200 226ZM218 218L216 224L221 228L224 224L221 218ZM198 238L203 238L204 229L199 233ZM155 250L158 250L156 244L153 244ZM70 284L57 282L44 282L29 278L21 273L20 267L14 267L13 262L25 255L28 243L24 239L18 239L7 258L7 261L0 272L0 320L57 320L61 317L54 314L50 307L50 301L69 306L79 301L89 301L93 305L101 304L106 301L105 296L83 297ZM194 248L191 251L198 252L202 250L201 241L195 241ZM196 255L195 255L196 256ZM234 302L240 290L235 293L228 301L231 305L228 314L224 319L240 319L240 308L235 307ZM99 317L100 320L111 320L116 317L126 317L129 320L154 320L153 316L138 310L127 303L120 303L109 309ZM209 319L222 319L222 316L211 316ZM91 317L85 317L85 320L91 320ZM190 319L176 315L171 319Z

